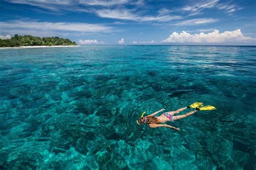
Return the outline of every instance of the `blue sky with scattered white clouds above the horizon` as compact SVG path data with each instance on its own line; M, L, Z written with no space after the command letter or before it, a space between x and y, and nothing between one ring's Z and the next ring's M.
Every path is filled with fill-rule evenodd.
M0 38L18 33L82 45L256 45L255 9L255 0L0 0Z

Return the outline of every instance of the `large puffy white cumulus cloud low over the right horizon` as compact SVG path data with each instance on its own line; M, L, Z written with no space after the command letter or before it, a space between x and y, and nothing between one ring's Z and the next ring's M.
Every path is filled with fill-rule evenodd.
M234 31L225 31L219 33L218 30L214 30L209 33L201 32L199 34L191 35L185 31L181 33L173 32L169 38L163 40L164 43L201 43L201 44L235 44L235 43L247 43L253 41L251 37L245 37L242 35L240 29Z

